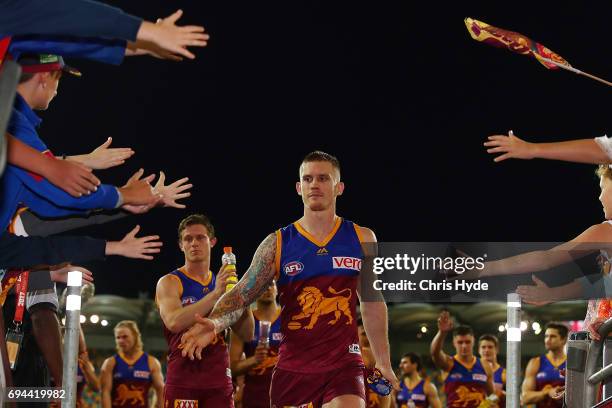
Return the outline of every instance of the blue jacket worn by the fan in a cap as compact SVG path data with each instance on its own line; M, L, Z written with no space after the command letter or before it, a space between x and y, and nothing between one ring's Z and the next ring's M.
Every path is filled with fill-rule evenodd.
M50 153L36 132L41 121L25 100L17 94L8 132L30 147ZM38 175L7 165L5 174L0 180L0 203L2 203L0 230L8 227L20 204L43 217L61 217L97 208L115 208L118 201L119 194L114 186L102 184L96 192L75 198Z

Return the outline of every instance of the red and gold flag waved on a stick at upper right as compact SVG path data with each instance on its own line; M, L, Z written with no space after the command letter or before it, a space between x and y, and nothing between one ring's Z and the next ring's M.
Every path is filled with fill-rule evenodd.
M474 20L470 17L465 19L465 26L470 32L472 38L476 41L480 41L494 47L507 48L510 51L518 54L531 55L548 69L558 69L559 67L543 60L542 58L547 58L561 65L571 67L569 62L567 62L559 54L551 51L542 44L533 41L531 38L526 37L521 33L497 28L487 23L483 23L482 21Z

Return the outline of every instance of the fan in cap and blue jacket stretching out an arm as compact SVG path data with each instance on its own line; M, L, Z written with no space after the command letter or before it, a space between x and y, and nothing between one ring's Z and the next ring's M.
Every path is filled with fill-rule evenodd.
M79 75L80 72L67 66L58 55L23 55L18 62L23 73L17 87L8 132L43 154L51 154L36 131L42 121L34 110L48 108L57 94L63 73ZM0 229L8 226L19 203L46 217L61 217L130 204L152 206L158 202L159 196L152 193L149 185L151 180L151 176L143 180L130 180L129 184L121 188L101 184L92 194L74 198L39 175L9 165L0 182L0 199L3 203L0 209Z

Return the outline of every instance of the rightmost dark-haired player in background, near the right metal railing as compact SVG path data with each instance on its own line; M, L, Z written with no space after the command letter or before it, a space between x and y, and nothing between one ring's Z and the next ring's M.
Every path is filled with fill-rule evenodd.
M565 343L569 330L561 323L551 322L544 332L546 354L533 357L525 369L521 404L536 404L537 408L562 407L563 399L557 399L565 389L567 356Z

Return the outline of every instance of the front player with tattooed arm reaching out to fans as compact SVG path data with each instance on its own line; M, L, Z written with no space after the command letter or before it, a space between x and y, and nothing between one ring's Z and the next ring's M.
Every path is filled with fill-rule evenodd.
M363 361L356 304L363 259L374 256L374 232L336 215L344 191L340 163L327 153L308 154L299 168L297 193L304 215L268 235L238 284L215 305L209 318L183 335L183 356L201 358L216 333L236 321L276 278L281 309L279 360L272 375L272 406L365 407ZM372 271L364 271L370 280ZM380 294L378 294L380 295ZM389 358L387 306L363 298L361 316L376 368L395 388Z

